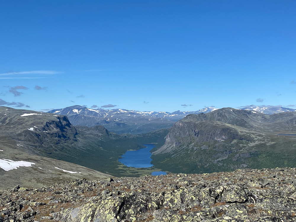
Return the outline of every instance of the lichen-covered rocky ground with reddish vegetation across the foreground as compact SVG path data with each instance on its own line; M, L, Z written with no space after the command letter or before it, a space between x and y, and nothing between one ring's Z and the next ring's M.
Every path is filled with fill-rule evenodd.
M296 221L296 168L75 180L0 191L0 222Z

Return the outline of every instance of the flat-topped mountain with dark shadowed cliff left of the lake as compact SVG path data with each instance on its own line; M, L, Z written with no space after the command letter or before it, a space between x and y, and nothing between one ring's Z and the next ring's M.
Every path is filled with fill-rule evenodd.
M0 136L21 141L32 154L50 155L77 142L78 132L66 116L1 107L0 123Z

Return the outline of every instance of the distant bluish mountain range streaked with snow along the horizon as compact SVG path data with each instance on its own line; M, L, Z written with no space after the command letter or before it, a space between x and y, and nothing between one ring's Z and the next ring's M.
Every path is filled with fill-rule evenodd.
M265 114L279 112L295 112L291 108L280 106L246 106L242 110L255 110ZM73 126L96 126L102 125L115 133L141 134L149 133L162 128L170 128L173 124L189 114L208 113L217 110L215 107L205 107L197 111L175 112L141 112L124 109L90 109L75 105L63 109L51 110L50 113L66 115Z

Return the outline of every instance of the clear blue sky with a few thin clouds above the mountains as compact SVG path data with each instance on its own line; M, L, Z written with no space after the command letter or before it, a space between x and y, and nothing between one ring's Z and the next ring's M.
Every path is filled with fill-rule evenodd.
M0 105L293 108L295 8L292 0L3 0Z

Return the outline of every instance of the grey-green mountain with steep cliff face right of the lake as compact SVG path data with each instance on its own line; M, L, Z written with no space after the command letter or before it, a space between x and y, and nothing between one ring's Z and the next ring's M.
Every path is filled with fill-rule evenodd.
M223 108L187 115L170 129L152 163L171 172L295 166L296 112L265 115Z

